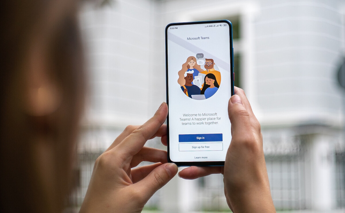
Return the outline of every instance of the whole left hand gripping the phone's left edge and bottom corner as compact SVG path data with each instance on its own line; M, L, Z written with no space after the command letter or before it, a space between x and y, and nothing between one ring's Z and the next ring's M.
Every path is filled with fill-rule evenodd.
M111 146L101 154L93 168L84 212L141 212L149 198L177 173L177 166L167 162L167 152L143 147L156 136L167 134L168 108L162 103L155 115L141 126L127 126ZM156 162L137 166L142 161Z

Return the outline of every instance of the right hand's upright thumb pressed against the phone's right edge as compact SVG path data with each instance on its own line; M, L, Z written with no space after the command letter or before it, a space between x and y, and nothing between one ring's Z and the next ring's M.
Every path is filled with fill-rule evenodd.
M228 104L228 113L233 134L241 136L250 130L249 112L239 95L231 96Z

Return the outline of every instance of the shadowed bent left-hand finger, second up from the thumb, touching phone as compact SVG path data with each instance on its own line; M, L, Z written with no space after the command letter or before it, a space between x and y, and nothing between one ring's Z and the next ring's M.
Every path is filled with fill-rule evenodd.
M148 161L152 163L167 163L167 151L144 146L137 154L133 156L130 163L131 168L137 166L142 161Z

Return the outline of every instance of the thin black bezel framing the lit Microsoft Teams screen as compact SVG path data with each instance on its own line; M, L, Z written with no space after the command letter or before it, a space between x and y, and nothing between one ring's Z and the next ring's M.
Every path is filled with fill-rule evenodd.
M226 22L229 24L229 35L230 35L230 77L231 77L231 95L234 95L234 48L233 48L233 27L229 20L213 20L213 21L193 21L193 22L178 22L170 23L165 28L165 66L166 66L166 102L169 106L169 93L168 93L168 28L171 26L178 25L191 25L191 24L207 24L207 23L220 23ZM169 148L169 112L167 116L167 152L168 152L168 162L175 163L177 166L224 166L224 161L172 161L170 159L170 148Z

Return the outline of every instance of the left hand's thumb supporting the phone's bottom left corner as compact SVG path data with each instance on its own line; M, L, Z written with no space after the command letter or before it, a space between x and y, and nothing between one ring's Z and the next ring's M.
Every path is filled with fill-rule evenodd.
M165 163L158 166L144 179L133 184L136 190L145 197L147 201L157 190L168 183L177 173L177 165L174 163Z

